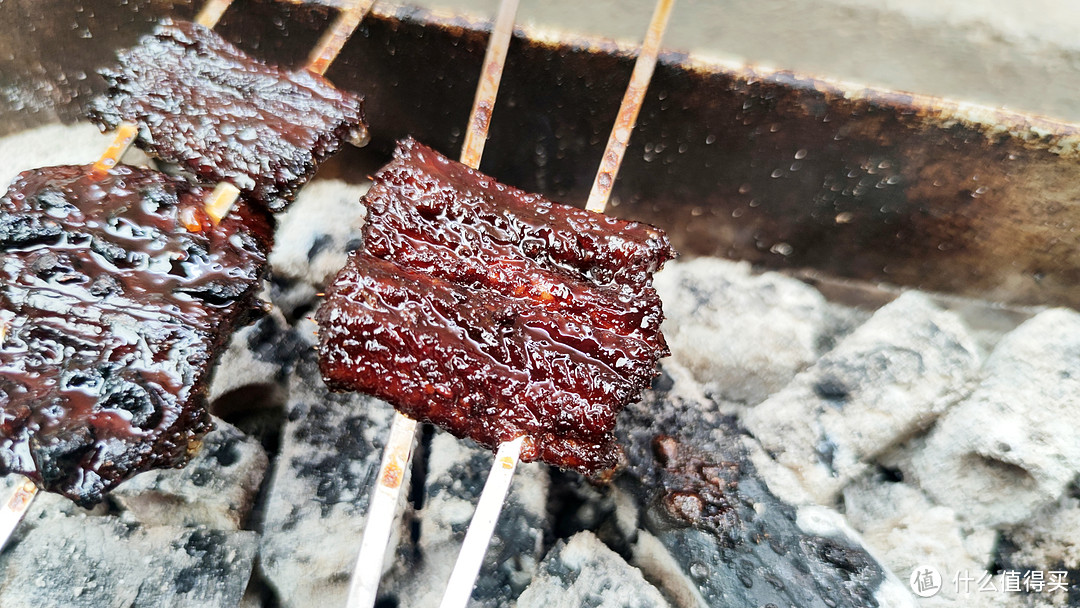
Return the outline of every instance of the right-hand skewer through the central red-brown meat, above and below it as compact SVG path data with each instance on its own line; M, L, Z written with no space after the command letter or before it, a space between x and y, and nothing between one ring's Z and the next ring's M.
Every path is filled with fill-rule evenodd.
M588 211L604 213L607 207L615 177L619 172L619 165L622 164L626 144L630 141L631 132L637 122L645 92L649 87L649 81L657 65L660 43L663 40L673 4L674 0L657 1L645 42L634 64L634 72L626 86L626 93L623 95L600 166L596 172L593 189L585 205ZM488 474L484 490L481 492L480 502L473 513L472 522L469 524L469 530L465 532L461 552L454 565L454 571L450 573L450 580L446 585L440 608L464 608L469 603L484 555L491 542L495 524L502 511L507 490L510 488L514 471L521 460L523 444L524 437L517 437L499 446L495 463Z

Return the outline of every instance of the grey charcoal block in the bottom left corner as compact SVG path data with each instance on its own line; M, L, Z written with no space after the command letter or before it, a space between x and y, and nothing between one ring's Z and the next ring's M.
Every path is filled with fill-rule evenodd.
M257 535L55 517L0 554L4 608L237 606Z

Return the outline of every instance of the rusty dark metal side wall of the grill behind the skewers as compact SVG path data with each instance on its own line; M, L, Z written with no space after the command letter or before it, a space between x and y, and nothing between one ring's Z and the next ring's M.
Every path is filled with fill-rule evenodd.
M219 28L260 57L300 65L334 13L237 0ZM94 69L161 14L193 10L0 2L0 133L73 120L102 86ZM369 171L406 134L456 154L488 27L377 5L327 72L367 96L373 145L327 173ZM511 44L482 168L580 205L633 53L527 35ZM1076 307L1078 141L1076 125L667 53L609 211L664 227L692 255Z

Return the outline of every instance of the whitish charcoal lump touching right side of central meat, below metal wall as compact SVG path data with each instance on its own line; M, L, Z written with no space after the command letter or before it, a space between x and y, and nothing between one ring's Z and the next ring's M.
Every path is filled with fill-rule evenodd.
M719 398L755 404L813 363L850 320L805 283L698 258L657 274L672 359Z

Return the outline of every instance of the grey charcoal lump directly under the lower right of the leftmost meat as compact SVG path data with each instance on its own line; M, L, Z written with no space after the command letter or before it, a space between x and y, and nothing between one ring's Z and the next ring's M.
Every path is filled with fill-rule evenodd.
M217 419L214 425L187 467L139 475L112 498L144 525L239 530L266 473L267 455L235 427Z

